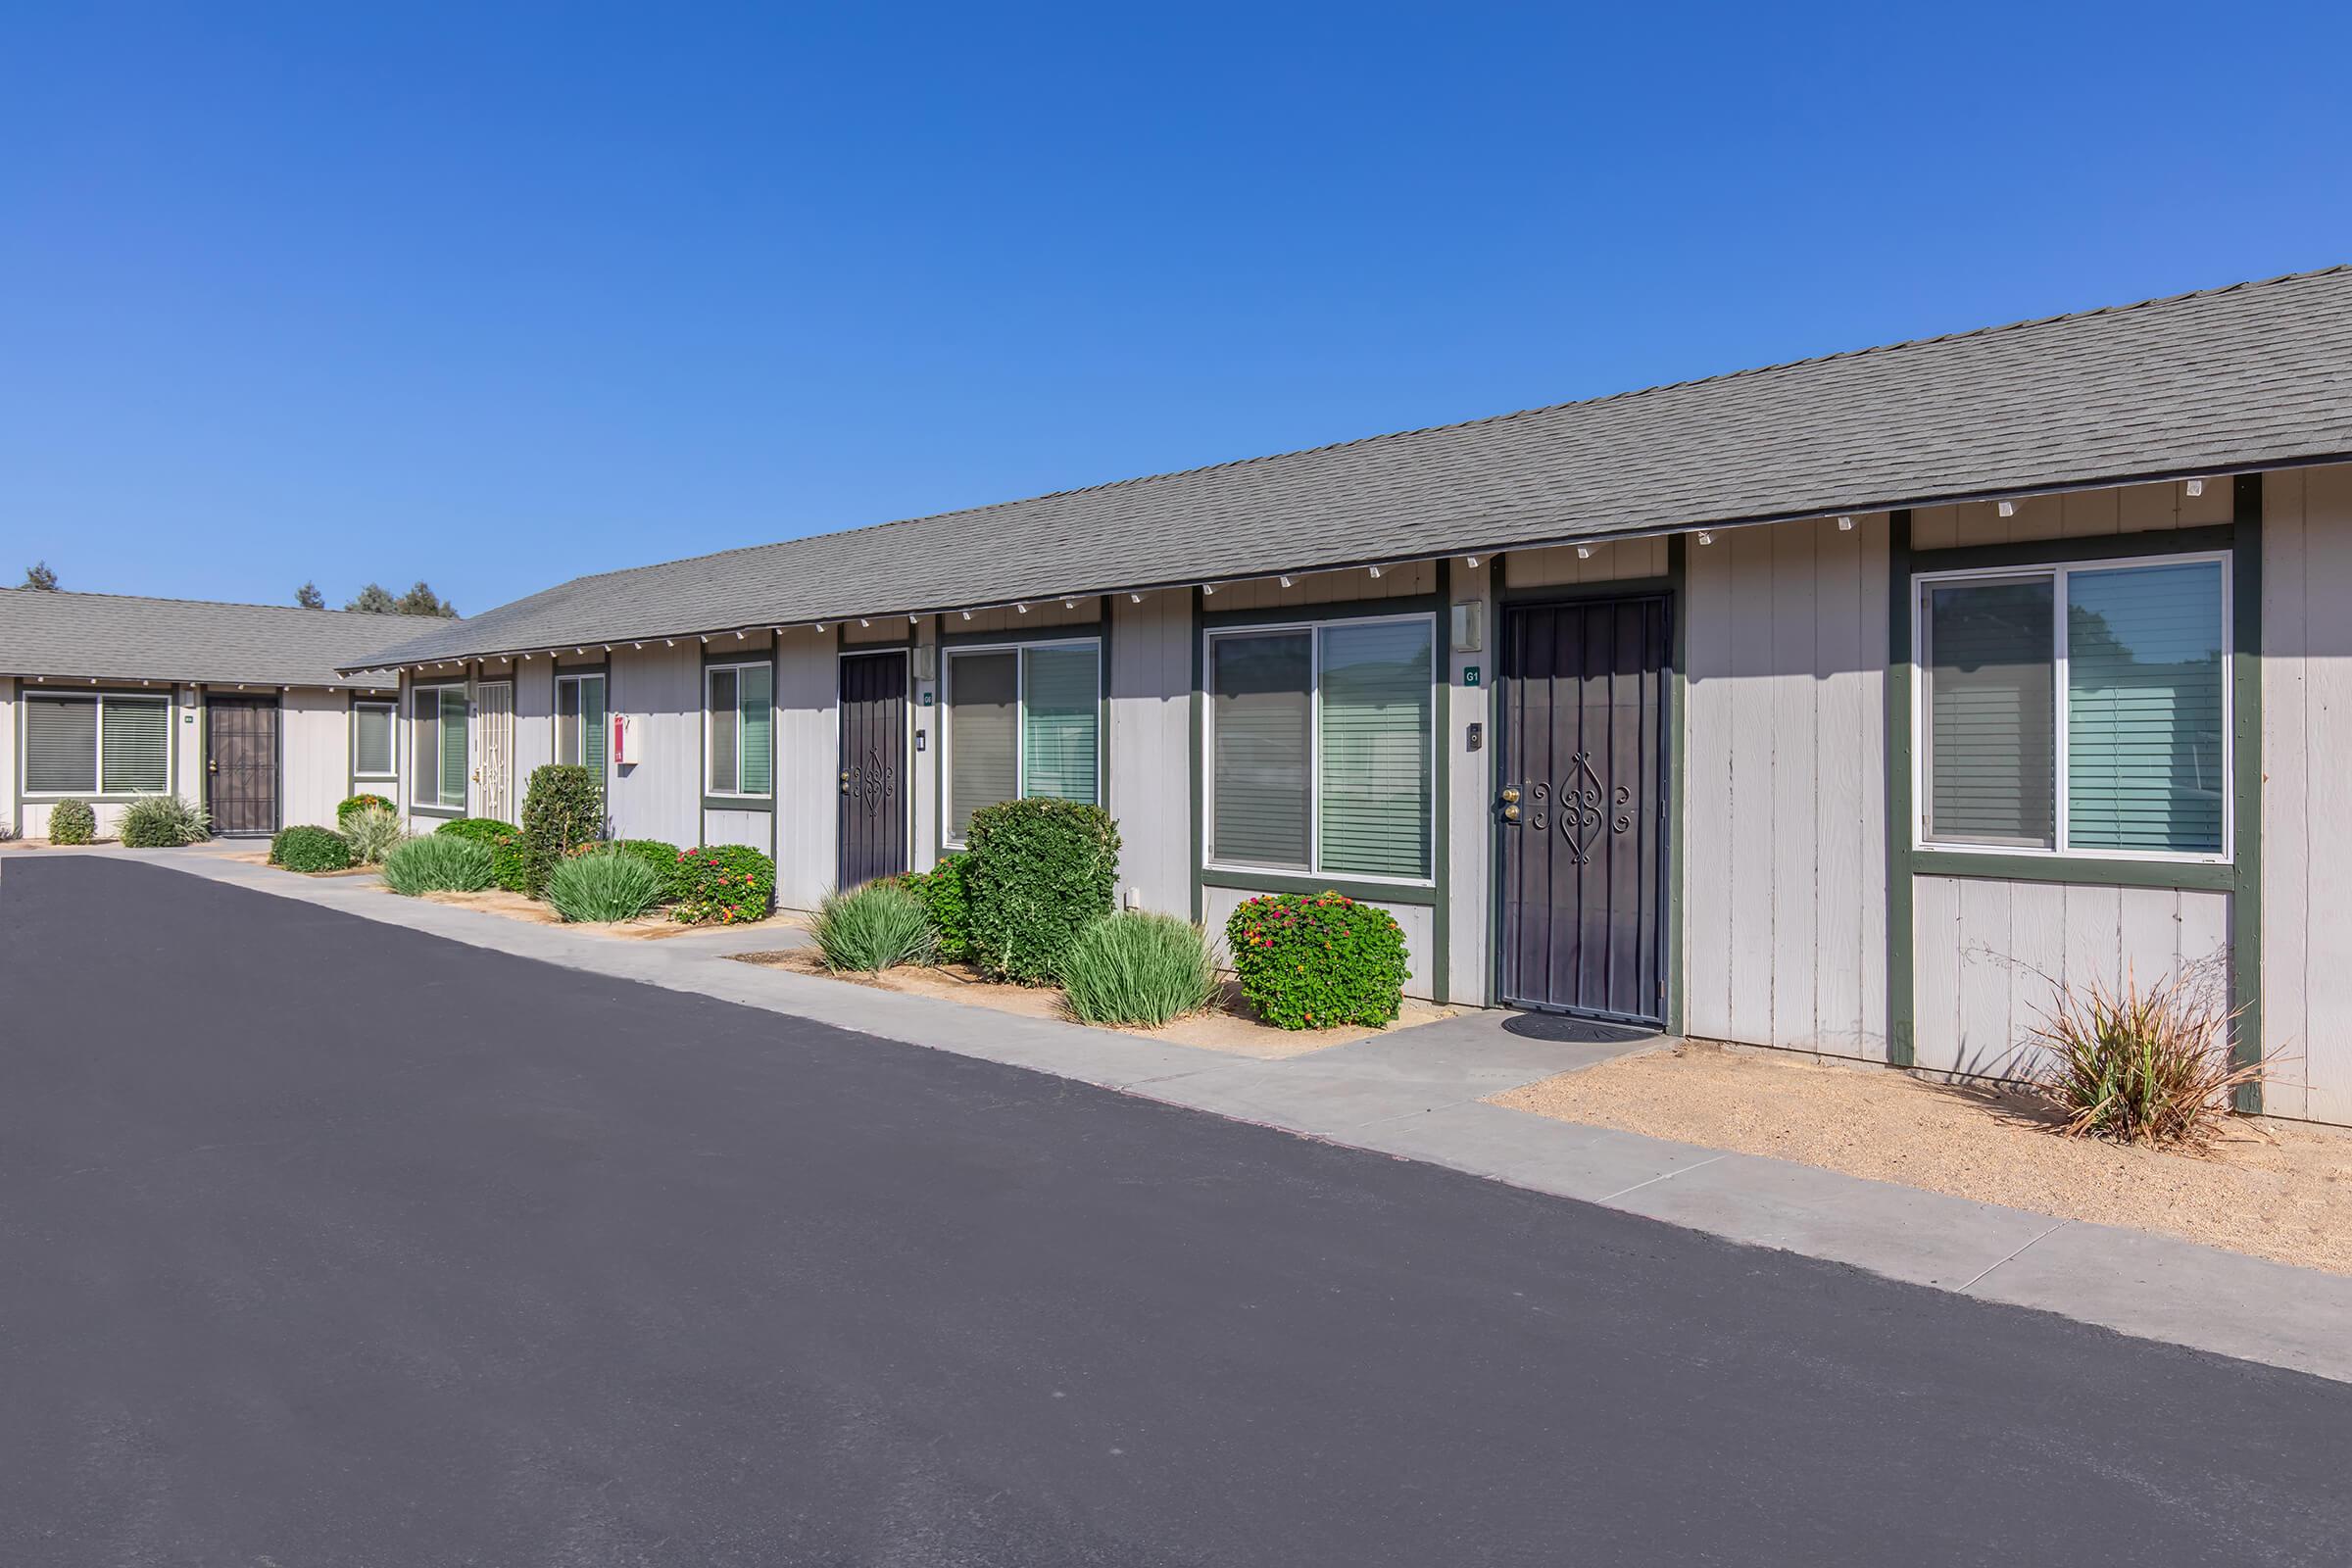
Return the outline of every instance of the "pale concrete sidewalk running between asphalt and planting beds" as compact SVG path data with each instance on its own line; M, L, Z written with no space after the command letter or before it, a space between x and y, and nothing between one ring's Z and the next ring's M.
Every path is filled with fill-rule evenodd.
M1512 1013L1468 1013L1265 1063L931 997L901 997L727 957L797 945L797 933L774 929L616 940L395 898L376 889L374 879L308 879L188 851L101 853L515 957L1054 1072L1167 1105L1604 1204L1733 1241L2352 1382L2352 1335L2345 1333L2352 1324L2352 1279L2338 1274L1778 1159L1550 1121L1484 1103L1498 1091L1656 1041L1543 1039L1538 1030L1515 1025Z

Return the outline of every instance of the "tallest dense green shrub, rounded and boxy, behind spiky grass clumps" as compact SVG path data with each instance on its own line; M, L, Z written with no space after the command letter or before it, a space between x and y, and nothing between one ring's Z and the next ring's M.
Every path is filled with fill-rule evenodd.
M1021 985L1061 978L1077 933L1110 914L1120 825L1101 806L1007 799L974 811L967 839L971 964Z

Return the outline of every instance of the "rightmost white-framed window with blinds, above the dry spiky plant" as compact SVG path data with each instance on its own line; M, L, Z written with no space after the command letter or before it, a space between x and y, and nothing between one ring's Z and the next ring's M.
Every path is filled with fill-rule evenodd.
M2223 856L2227 668L2220 557L1926 581L1922 842Z

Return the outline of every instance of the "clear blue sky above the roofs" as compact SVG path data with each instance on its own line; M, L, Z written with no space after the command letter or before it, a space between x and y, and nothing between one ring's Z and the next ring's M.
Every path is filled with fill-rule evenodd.
M2336 5L1141 9L16 0L0 576L477 611L2352 261Z

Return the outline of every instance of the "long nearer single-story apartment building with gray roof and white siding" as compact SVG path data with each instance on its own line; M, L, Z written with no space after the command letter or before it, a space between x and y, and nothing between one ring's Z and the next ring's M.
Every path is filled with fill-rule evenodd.
M1338 889L1411 990L2016 1074L2209 976L2352 1121L2352 268L586 576L386 654L416 818L1122 898ZM619 752L614 752L614 741ZM475 762L487 766L475 766Z

